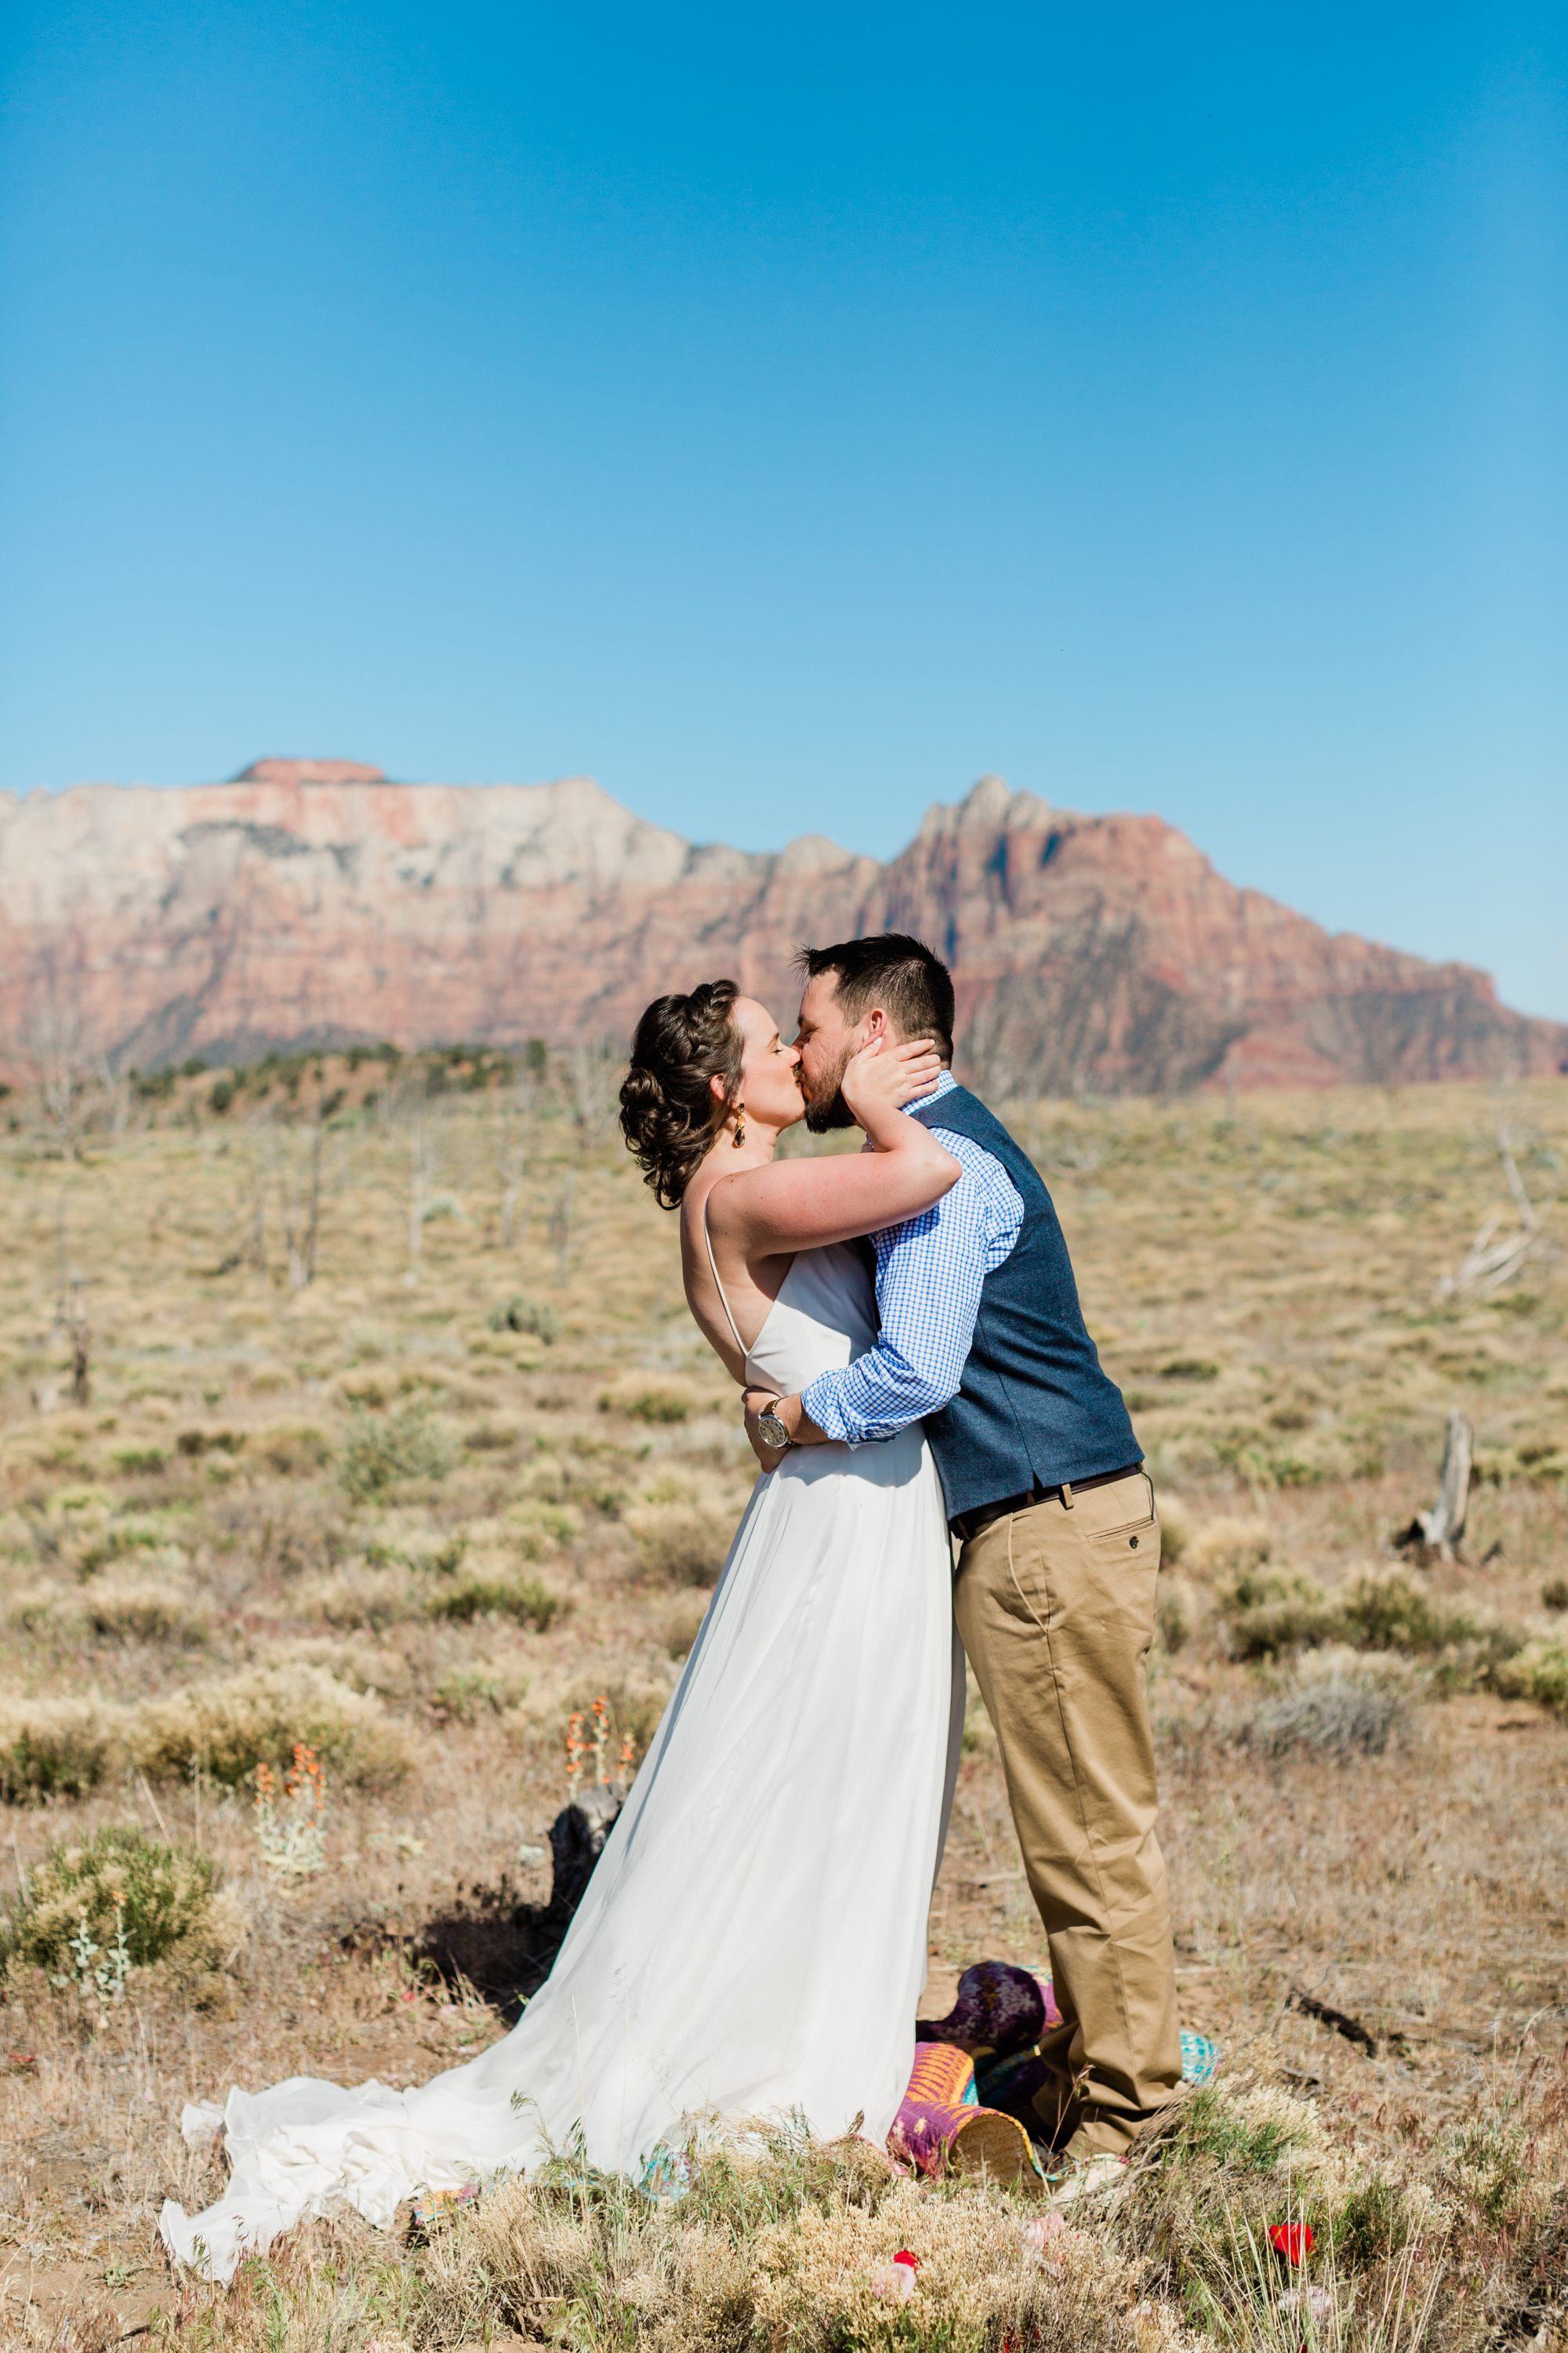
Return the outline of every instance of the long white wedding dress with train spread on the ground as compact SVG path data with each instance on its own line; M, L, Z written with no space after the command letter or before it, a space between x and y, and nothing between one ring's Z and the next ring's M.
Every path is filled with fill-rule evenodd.
M875 1329L856 1252L804 1249L748 1377L795 1393ZM512 2033L414 2092L294 2075L186 2108L190 2141L223 2127L233 2174L205 2214L165 2205L169 2252L228 2280L339 2200L388 2228L421 2188L574 2146L642 2177L661 2146L722 2120L797 2115L832 2137L863 2115L882 2141L914 2059L961 1715L947 1520L919 1426L795 1449L752 1492Z

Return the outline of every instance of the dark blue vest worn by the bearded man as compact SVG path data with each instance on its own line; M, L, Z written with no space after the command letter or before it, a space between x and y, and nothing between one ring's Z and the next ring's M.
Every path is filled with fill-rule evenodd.
M1060 1487L1135 1464L1133 1424L1100 1369L1039 1169L966 1087L905 1108L922 1127L971 1136L1023 1200L1018 1240L980 1289L959 1393L926 1419L947 1518L1027 1494L1037 1482Z

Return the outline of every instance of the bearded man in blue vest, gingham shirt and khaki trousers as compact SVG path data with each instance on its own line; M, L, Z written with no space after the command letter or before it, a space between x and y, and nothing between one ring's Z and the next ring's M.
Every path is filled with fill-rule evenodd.
M802 948L806 1127L853 1127L844 1066L870 1038L933 1038L952 1064L952 979L900 932ZM924 1421L959 1544L952 1605L997 1727L1063 2024L1023 2122L1079 2184L1147 2132L1180 2082L1175 1962L1145 1661L1159 1518L1121 1391L1084 1327L1034 1162L945 1068L910 1104L964 1174L872 1235L877 1344L773 1405L795 1445Z

